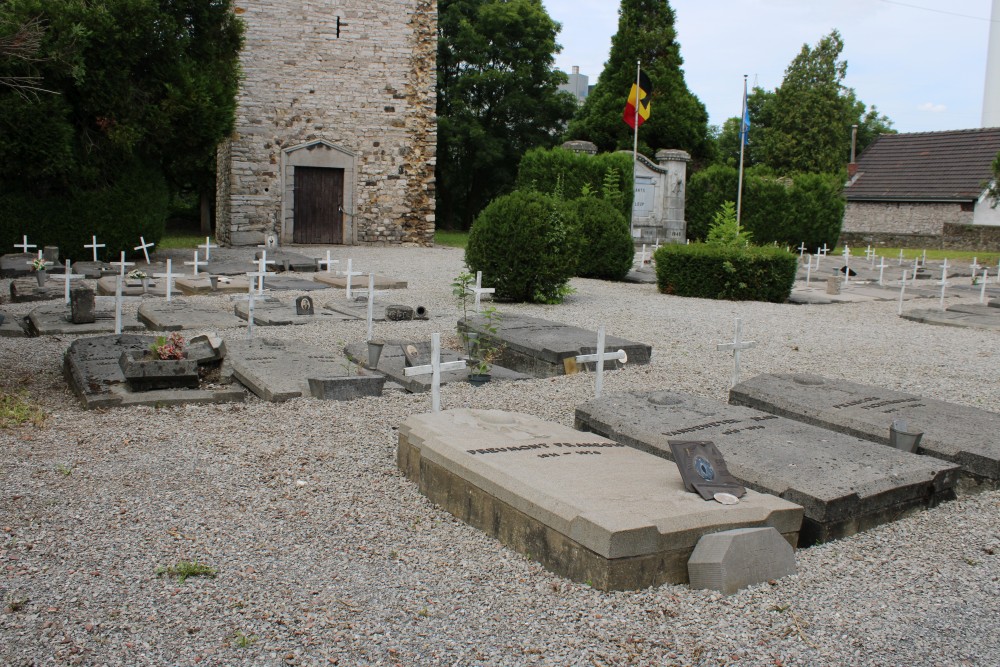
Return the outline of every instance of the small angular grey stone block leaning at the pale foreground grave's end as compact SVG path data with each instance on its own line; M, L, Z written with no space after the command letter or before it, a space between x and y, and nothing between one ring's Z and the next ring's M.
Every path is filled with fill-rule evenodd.
M797 572L792 545L769 526L705 535L688 560L691 588L726 595Z

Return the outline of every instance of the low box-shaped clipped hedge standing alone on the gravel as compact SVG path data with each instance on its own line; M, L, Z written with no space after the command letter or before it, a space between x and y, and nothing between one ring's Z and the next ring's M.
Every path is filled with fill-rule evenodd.
M795 254L773 246L665 245L654 258L661 292L702 299L783 303L798 268Z

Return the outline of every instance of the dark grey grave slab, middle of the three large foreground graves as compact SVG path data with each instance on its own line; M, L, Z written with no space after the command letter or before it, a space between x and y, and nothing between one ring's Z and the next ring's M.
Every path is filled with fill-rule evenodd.
M802 542L868 530L954 497L955 465L856 437L668 391L627 393L576 409L576 427L672 460L668 441L710 440L748 488L805 510Z

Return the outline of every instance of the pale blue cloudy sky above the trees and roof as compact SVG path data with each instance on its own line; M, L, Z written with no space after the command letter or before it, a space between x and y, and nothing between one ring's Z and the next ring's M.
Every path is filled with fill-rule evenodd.
M618 1L542 2L562 24L556 67L568 73L578 65L597 83L618 30ZM803 44L815 45L836 28L844 39L845 85L896 130L980 126L991 0L669 2L688 89L713 125L739 116L744 74L751 87L773 90Z

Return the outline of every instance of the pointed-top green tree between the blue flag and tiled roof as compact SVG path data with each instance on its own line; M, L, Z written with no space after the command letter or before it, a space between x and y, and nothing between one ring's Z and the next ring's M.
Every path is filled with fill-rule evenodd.
M748 105L752 126L747 164L779 173L834 172L850 157L851 125L858 125L858 151L892 122L844 86L844 41L834 30L802 50L773 92L755 88Z

